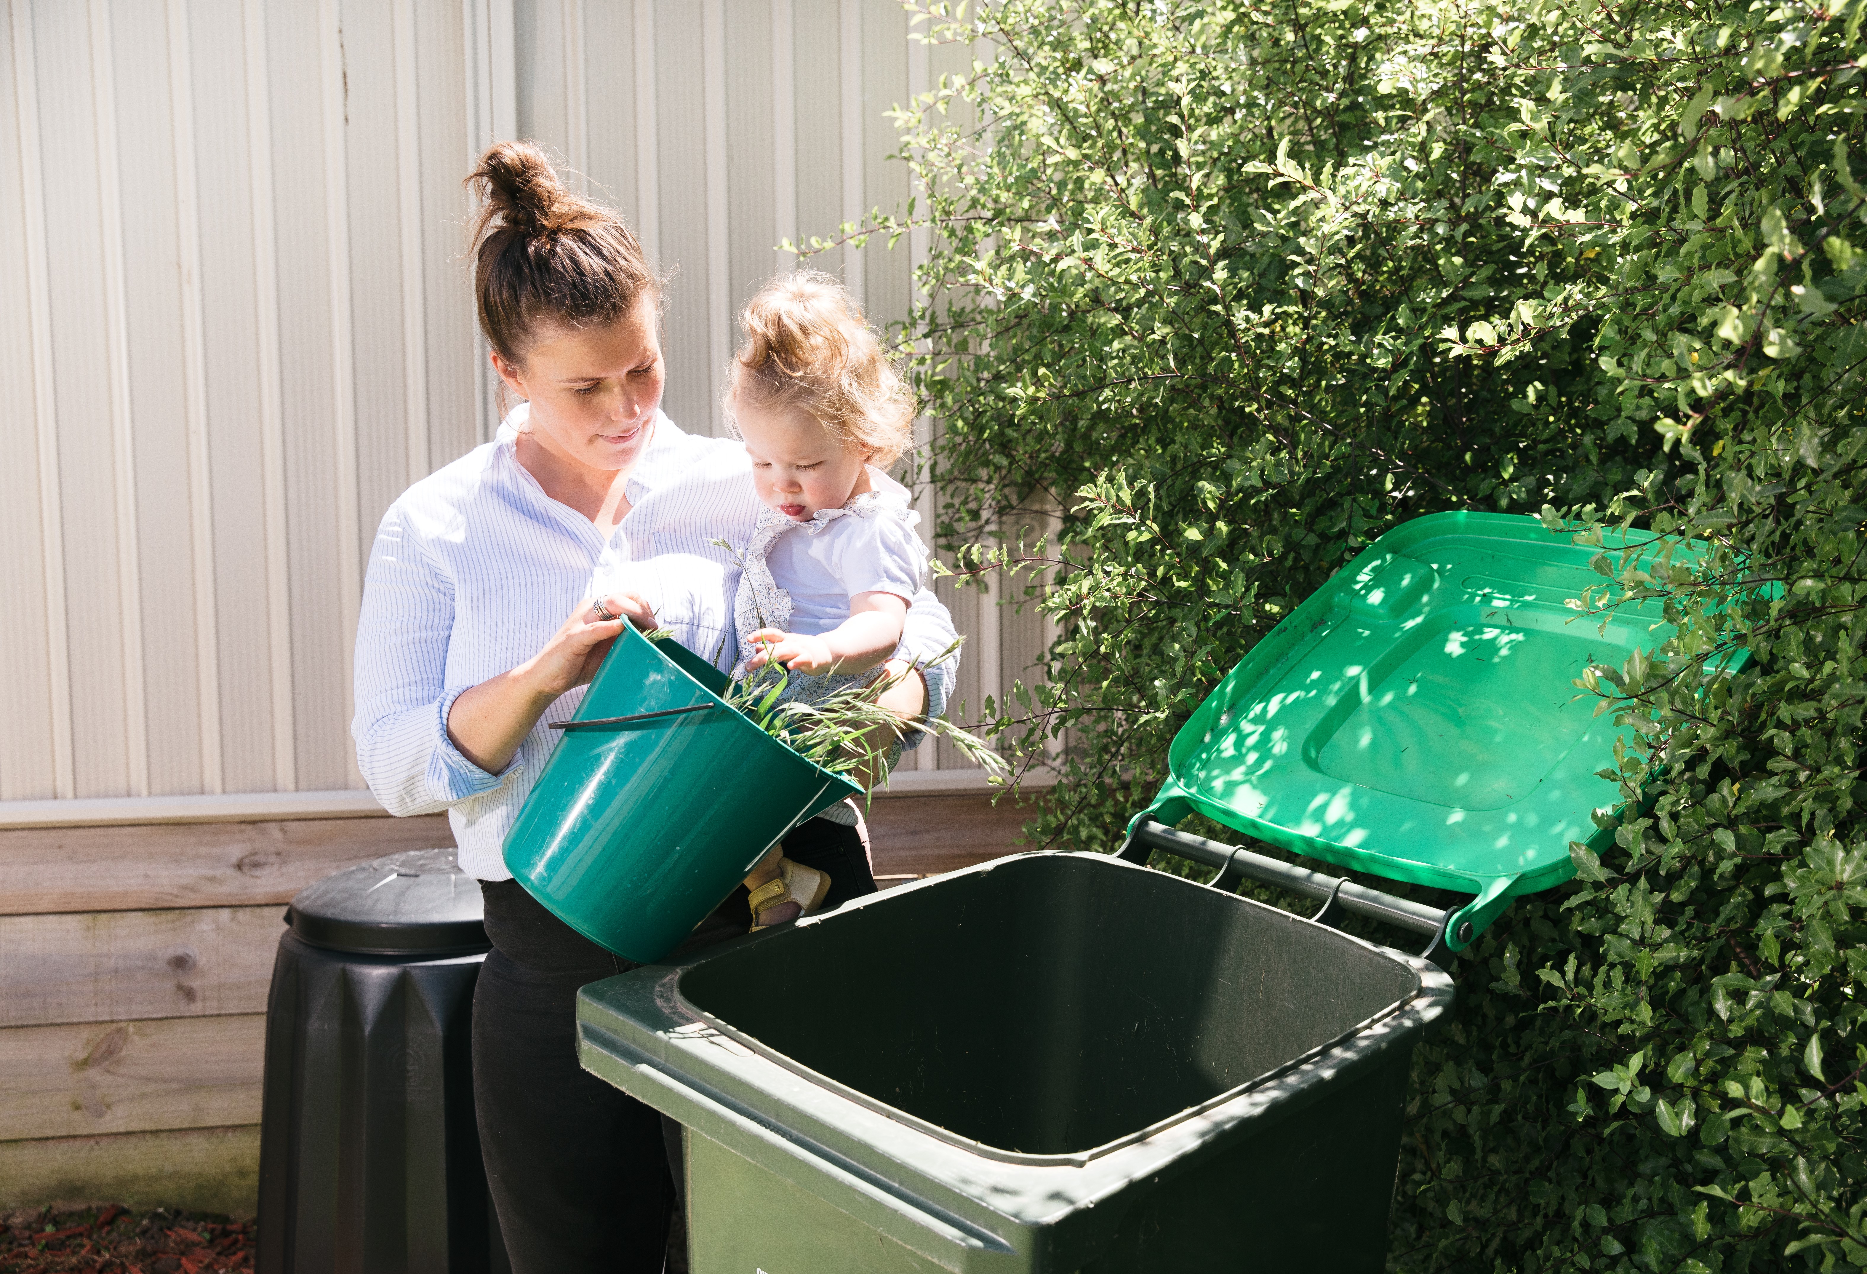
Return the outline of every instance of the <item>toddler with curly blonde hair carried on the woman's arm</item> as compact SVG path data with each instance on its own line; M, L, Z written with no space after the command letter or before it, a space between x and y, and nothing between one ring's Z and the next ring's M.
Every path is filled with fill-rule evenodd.
M786 275L741 314L726 413L765 504L745 551L736 624L741 674L782 663L786 699L816 702L876 676L894 656L907 605L926 581L920 521L889 478L913 445L913 402L829 275ZM898 743L887 762L898 755ZM853 775L864 786L879 775ZM831 807L823 818L853 822ZM745 878L752 932L808 915L829 876L773 850Z

